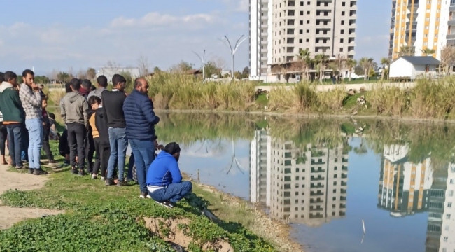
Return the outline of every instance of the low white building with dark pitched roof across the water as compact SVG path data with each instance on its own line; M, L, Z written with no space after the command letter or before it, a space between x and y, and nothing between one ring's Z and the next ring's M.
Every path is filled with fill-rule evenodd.
M415 80L416 78L436 76L440 61L431 56L402 56L389 66L388 78Z

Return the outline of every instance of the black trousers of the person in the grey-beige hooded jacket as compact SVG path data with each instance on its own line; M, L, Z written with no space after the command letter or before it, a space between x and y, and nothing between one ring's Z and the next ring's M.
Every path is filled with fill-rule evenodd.
M85 167L85 139L87 129L80 123L68 123L68 145L69 145L69 163L71 167L76 167L76 155L78 156L78 168Z

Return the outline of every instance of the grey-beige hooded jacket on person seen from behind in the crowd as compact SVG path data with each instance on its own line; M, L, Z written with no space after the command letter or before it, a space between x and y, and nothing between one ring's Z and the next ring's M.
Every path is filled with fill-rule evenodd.
M60 112L65 124L80 123L88 127L88 102L78 91L65 94Z

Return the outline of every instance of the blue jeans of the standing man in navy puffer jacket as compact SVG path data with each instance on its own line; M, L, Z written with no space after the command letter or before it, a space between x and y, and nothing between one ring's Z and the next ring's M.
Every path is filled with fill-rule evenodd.
M146 193L146 176L148 167L155 160L155 144L151 140L130 139L131 150L134 155L134 164L136 165L137 183L141 193Z

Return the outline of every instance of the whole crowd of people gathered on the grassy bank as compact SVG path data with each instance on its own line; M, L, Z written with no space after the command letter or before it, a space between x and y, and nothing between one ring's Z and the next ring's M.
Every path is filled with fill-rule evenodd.
M48 174L41 168L41 149L48 162L55 163L49 144L55 139L71 173L89 174L92 179L100 176L106 186L137 181L140 198L152 198L170 208L193 189L189 181L182 181L179 144L158 144L155 125L160 118L153 111L145 78L134 80L130 94L125 93L127 80L119 74L112 78L112 90L107 90L106 76L97 78L97 87L90 80L73 78L65 84L66 94L59 104L65 126L61 135L55 115L46 111L48 97L43 85L34 83L34 72L23 71L22 82L18 84L12 71L0 73L1 164L7 164L7 142L10 166L37 176ZM125 171L128 146L132 153Z

